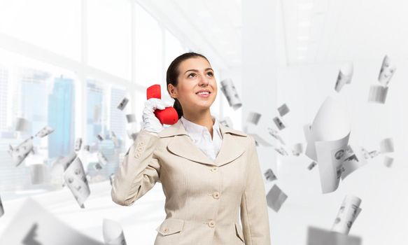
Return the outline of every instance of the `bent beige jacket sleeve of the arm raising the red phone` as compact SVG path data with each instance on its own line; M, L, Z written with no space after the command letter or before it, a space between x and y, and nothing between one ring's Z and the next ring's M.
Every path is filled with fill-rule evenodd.
M154 154L158 141L154 132L139 132L115 173L111 191L113 202L132 205L159 181L160 165Z

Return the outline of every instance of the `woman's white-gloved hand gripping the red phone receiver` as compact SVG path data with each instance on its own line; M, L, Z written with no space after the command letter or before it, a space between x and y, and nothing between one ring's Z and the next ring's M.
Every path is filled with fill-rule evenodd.
M145 102L145 107L143 109L143 122L142 130L147 130L148 132L158 133L163 130L163 125L160 120L156 118L154 111L156 109L164 110L166 107L172 106L169 101L162 101L161 99L150 98Z

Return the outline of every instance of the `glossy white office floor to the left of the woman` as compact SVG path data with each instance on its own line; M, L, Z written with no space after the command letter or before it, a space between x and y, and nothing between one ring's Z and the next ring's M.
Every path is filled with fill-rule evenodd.
M155 228L165 218L164 194L160 183L130 207L112 202L109 181L92 184L90 189L91 195L85 202L85 209L80 209L68 188L30 197L59 220L101 242L104 241L102 222L108 218L122 225L127 244L154 243L157 235ZM3 202L5 214L0 218L0 236L24 200L26 197Z

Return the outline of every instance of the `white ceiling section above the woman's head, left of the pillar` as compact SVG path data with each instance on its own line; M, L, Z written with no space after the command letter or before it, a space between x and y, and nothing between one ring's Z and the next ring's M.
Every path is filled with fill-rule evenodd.
M218 66L241 63L241 0L137 0L181 41L216 60Z

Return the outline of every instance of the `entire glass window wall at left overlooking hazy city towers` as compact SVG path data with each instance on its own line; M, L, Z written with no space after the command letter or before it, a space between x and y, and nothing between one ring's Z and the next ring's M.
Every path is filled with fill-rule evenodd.
M128 130L140 129L146 88L165 86L169 62L185 50L134 1L1 1L1 198L55 189L52 181L33 184L30 166L45 165L51 175L78 138L89 149L78 155L90 182L108 179L132 144ZM125 97L129 103L119 110ZM8 151L45 126L54 131L34 137L33 151L16 166ZM108 160L103 169L95 167L98 152Z

